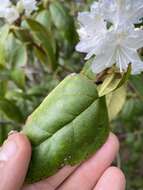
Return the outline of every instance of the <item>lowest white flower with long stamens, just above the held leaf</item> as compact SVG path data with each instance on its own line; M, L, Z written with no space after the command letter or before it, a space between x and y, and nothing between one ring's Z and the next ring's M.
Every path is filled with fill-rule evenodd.
M139 74L143 71L143 62L141 61L137 49L143 47L143 31L112 31L109 32L100 46L102 51L96 54L92 69L95 73L100 73L106 68L116 64L120 72L127 71L131 63L132 74Z

